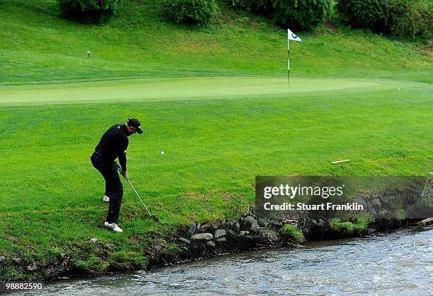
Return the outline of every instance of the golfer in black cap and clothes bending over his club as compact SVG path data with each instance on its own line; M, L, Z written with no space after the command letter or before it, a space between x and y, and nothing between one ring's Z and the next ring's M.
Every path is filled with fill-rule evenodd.
M126 152L128 137L135 132L142 134L142 126L138 119L129 118L126 124L115 124L105 131L91 156L93 167L103 175L105 179L104 201L110 201L108 215L104 225L115 232L122 232L119 227L120 205L122 204L123 185L117 173L115 159L119 158L123 177L128 177L126 167Z

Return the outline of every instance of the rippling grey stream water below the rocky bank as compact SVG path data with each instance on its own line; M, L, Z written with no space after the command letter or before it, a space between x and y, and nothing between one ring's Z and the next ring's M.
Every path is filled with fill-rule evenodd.
M433 295L433 228L59 280L44 295Z

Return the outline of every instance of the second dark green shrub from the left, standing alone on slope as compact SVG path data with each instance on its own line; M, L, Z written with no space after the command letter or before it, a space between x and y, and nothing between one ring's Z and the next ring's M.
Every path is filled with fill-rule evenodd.
M215 0L166 0L163 16L173 23L206 25L217 15Z

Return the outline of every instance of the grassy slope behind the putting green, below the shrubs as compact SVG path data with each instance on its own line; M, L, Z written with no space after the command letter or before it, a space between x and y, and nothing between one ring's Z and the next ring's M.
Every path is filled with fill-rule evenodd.
M221 1L209 28L171 25L160 1L124 1L108 25L59 18L56 1L0 1L0 84L142 76L282 76L287 32ZM432 83L432 53L403 40L322 26L297 32L291 71L299 77L386 78ZM91 58L86 52L91 50Z

